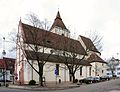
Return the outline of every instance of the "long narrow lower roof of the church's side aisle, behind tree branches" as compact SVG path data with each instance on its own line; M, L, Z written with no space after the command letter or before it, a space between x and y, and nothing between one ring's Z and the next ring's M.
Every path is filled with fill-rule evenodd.
M49 61L53 63L69 63L69 64L73 63L73 64L80 64L83 66L91 66L91 64L86 60L79 60L77 58L74 58L75 60L72 61L73 60L72 57L64 57L64 56L58 56L54 54L47 54L41 52L35 53L34 51L28 51L28 50L25 50L25 53L27 55L27 59L29 60L37 60L39 57L39 60Z

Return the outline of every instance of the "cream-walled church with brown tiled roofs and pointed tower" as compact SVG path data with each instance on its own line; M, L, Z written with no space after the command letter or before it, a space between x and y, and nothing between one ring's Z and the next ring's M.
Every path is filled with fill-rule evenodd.
M94 66L91 66L91 64L95 62L95 65L100 66L100 69L102 69L101 63L105 63L99 57L100 53L97 51L90 39L83 36L79 36L78 40L70 38L70 31L63 23L59 11L49 31L24 24L20 20L17 37L17 44L23 46L21 49L17 45L16 58L16 74L18 75L18 82L21 84L26 84L32 79L36 81L39 79L38 74L30 67L26 60L27 57L27 59L30 60L30 63L34 64L34 67L38 69L35 56L36 53L30 48L35 45L44 49L44 53L42 52L43 49L39 49L38 54L40 57L39 60L47 61L44 65L43 72L43 77L45 77L47 82L55 82L59 79L62 81L69 81L69 71L64 64L66 61L62 55L64 52L69 54L67 57L69 61L72 61L72 58L69 57L71 56L71 53L75 53L75 55L77 55L75 58L76 64L81 65L79 67L79 71L75 74L77 79L96 76L93 74L93 71L95 72L95 70ZM33 39L33 37L35 37L36 40ZM94 58L94 61L92 61L93 59L87 60L88 58L91 58L90 56L92 54L95 54L97 58ZM49 55L50 57L46 59ZM59 59L57 59L58 55ZM84 55L85 59L80 61ZM59 71L57 76L55 72L56 69ZM99 72L101 71L98 71L97 74L102 75Z

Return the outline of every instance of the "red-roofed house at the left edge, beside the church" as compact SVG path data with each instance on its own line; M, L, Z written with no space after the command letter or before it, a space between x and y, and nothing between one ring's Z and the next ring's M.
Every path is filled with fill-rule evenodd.
M6 58L0 59L0 81L10 82L14 80L15 59Z

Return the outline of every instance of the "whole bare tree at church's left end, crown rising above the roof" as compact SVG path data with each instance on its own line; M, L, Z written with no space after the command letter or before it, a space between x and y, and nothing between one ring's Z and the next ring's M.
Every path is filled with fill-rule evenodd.
M39 75L39 85L43 86L43 67L52 54L50 53L47 56L45 56L44 54L47 49L46 44L48 44L48 42L46 42L46 39L49 35L49 33L47 32L47 30L49 29L48 21L47 19L45 19L45 21L41 21L34 13L28 14L26 19L28 20L29 24L32 25L29 26L22 23L22 26L28 28L28 30L26 31L27 33L25 33L25 31L10 33L10 40L16 43L16 47L13 47L11 51L14 51L15 49L17 49L17 51L19 52L20 50L22 51L22 56L26 58L25 60L28 62L28 64ZM44 31L42 35L39 33L39 30ZM24 36L26 35L28 38L25 38L23 34ZM29 39L29 41L27 42L25 41L25 39ZM40 46L39 43L42 45ZM24 60L22 59L19 62L23 61ZM38 69L34 67L32 63L34 61L37 62Z

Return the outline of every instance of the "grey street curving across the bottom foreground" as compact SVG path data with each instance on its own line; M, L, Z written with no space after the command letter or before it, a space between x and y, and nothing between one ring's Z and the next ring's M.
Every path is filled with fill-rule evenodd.
M38 91L0 87L0 92L38 92ZM53 92L53 91L40 91L40 92ZM88 85L84 84L78 88L55 90L54 92L120 92L120 79Z

